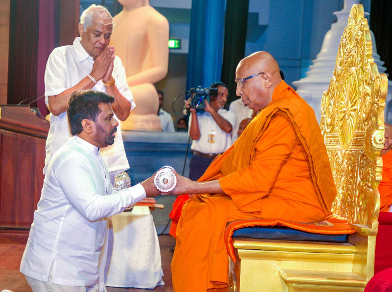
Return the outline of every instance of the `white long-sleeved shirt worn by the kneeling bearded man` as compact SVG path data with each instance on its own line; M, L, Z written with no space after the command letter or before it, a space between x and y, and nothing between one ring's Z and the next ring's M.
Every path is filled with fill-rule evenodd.
M113 189L98 150L74 136L50 160L21 262L25 275L48 282L53 263L52 284L98 282L105 217L146 197L140 184Z

